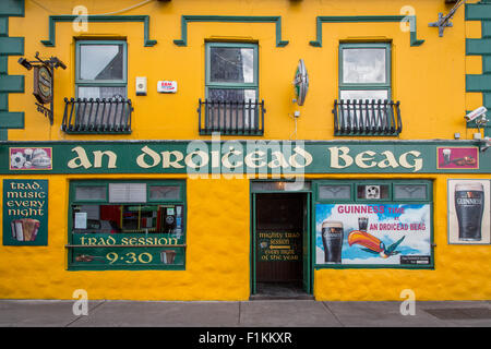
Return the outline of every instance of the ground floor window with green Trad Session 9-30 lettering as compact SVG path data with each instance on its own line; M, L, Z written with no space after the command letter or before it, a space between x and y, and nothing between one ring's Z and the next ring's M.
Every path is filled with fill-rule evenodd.
M184 269L185 182L72 181L68 266Z

